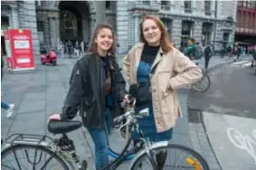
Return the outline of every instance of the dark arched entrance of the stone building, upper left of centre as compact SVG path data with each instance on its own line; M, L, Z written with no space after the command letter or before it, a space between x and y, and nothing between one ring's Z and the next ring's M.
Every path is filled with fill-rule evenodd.
M90 38L90 8L88 2L61 1L60 35L62 41L85 41Z

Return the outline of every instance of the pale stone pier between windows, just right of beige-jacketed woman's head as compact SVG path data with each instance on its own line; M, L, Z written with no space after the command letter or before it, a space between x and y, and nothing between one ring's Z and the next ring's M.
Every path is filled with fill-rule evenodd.
M172 29L172 41L175 43L175 48L179 49L181 44L181 29L182 20L179 18L174 18L173 29Z

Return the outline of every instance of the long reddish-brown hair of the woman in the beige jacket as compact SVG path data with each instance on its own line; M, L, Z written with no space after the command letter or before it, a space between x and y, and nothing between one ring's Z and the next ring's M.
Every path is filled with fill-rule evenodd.
M140 22L140 42L146 43L145 37L143 35L143 23L146 20L153 20L156 23L156 26L160 29L162 32L161 38L160 38L160 46L163 49L163 52L167 53L170 52L173 49L172 42L170 41L169 35L167 33L165 25L161 22L161 20L155 16L155 15L146 15Z

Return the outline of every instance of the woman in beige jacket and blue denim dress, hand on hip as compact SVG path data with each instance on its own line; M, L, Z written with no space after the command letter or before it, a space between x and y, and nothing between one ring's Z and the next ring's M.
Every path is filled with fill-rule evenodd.
M182 115L176 90L200 80L202 72L172 46L157 16L147 15L140 23L140 42L125 56L124 72L137 112L149 110L147 117L138 119L140 130L152 142L170 140L175 120ZM156 155L160 169L165 160L166 152Z

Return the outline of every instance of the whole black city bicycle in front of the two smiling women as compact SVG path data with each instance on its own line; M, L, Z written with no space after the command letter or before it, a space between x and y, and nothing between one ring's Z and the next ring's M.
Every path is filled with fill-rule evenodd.
M168 153L167 149L175 149L179 151L184 151L186 156L182 159L183 163L181 165L165 165L169 168L179 167L179 169L194 169L194 170L209 170L209 166L207 162L204 160L202 156L200 156L193 149L180 146L175 144L170 144L168 141L157 142L155 144L150 143L147 138L144 137L143 133L139 130L137 125L137 118L144 118L148 115L147 111L140 111L139 113L135 112L135 103L133 101L132 107L126 111L124 115L119 116L118 118L114 118L114 123L116 127L122 129L126 127L126 136L128 137L128 143L119 154L119 157L112 161L108 167L104 167L100 170L115 170L119 165L121 165L124 161L127 160L128 156L137 155L134 157L129 169L136 170L140 169L143 165L144 161L149 162L149 167L153 167L154 170L162 170L164 165L166 164L165 160L158 160L156 154L161 152L166 152L166 156L170 156L171 153ZM123 123L126 121L125 123ZM19 163L19 159L17 158L17 149L25 149L25 156L28 159L28 162L33 165L33 169L49 169L47 166L51 163L52 159L57 161L57 166L52 168L51 170L69 170L75 169L75 165L80 170L87 169L87 162L85 160L81 161L80 157L76 154L75 146L73 145L73 141L66 135L73 130L76 130L81 127L80 121L50 121L48 123L48 130L52 134L62 134L62 137L53 139L48 136L40 136L40 135L24 135L24 134L14 134L6 139L5 146L2 147L1 156L1 169L12 169L10 165L5 165L5 157L9 156L10 153L14 153L14 162L18 166L18 168L13 169L22 169L21 164ZM132 137L130 134L134 131L140 135L137 143L128 148L131 144ZM129 134L129 135L128 135ZM11 139L13 137L13 139ZM27 149L35 149L33 153L34 156L29 156ZM38 156L37 153L41 151L42 153ZM39 165L42 159L43 152L49 154L50 156L44 156L45 163L40 167L36 167ZM173 157L181 156L175 152ZM30 157L31 160L30 160ZM162 161L162 162L161 162ZM160 164L161 163L161 164ZM168 163L169 164L169 163ZM159 166L162 165L162 166ZM48 167L48 168L47 168ZM29 169L29 168L25 168Z

